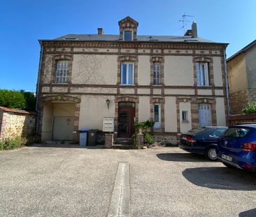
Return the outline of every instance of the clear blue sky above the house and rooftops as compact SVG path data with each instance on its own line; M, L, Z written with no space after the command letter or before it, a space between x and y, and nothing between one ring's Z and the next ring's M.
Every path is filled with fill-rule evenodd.
M0 89L36 91L38 39L67 33L118 34L127 15L138 21L140 35L183 35L178 22L193 15L198 34L229 43L227 57L256 39L255 0L3 0L0 6ZM185 29L190 29L188 23Z

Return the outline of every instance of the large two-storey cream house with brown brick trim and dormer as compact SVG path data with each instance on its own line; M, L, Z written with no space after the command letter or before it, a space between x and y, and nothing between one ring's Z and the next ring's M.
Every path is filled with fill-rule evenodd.
M114 119L114 137L131 137L134 121L155 121L157 140L198 126L225 126L226 43L197 36L141 36L131 17L118 35L68 34L39 40L38 133L43 141L78 140L78 129L102 130Z

